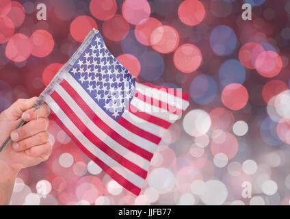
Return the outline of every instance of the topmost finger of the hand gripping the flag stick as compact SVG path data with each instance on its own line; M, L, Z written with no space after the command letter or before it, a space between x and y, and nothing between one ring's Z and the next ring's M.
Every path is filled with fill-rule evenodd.
M7 110L5 110L5 113L9 114L10 118L18 120L18 118L21 118L23 112L33 107L34 103L36 103L36 100L36 96L32 97L31 99L18 99Z

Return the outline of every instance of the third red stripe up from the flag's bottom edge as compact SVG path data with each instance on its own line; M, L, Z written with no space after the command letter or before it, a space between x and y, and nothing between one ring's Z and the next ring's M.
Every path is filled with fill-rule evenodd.
M136 153L137 155L140 155L141 157L144 157L144 159L150 161L150 159L153 157L153 153L150 153L149 151L142 149L140 146L137 146L136 144L129 142L129 140L120 136L120 134L114 131L114 129L111 129L111 127L109 127L103 120L101 120L101 118L99 118L98 115L96 115L94 111L92 111L92 109L88 106L88 104L85 103L85 101L83 101L81 96L79 96L79 94L75 91L75 89L72 88L72 86L70 86L68 81L63 80L62 83L60 83L60 85L62 86L62 88L64 88L64 90L66 90L66 92L68 92L70 96L73 96L73 99L75 100L77 105L81 107L83 112L85 112L85 114L89 118L91 118L92 122L97 127L102 129L108 136L110 136L112 139L114 139L116 142L118 142L125 148L129 149L133 153Z

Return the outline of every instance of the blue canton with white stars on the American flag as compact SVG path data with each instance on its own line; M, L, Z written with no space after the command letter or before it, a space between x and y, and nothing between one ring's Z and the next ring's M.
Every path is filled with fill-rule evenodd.
M118 120L133 98L135 79L108 51L99 33L69 73L115 120Z

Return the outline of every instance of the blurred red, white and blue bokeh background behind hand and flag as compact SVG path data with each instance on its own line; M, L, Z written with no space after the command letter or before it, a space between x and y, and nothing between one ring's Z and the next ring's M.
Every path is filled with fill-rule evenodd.
M53 154L21 171L11 204L289 205L289 21L286 0L0 0L0 112L40 94L92 27L138 81L191 96L140 196L51 120Z

